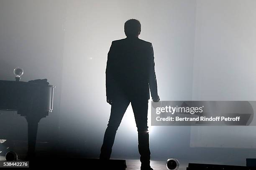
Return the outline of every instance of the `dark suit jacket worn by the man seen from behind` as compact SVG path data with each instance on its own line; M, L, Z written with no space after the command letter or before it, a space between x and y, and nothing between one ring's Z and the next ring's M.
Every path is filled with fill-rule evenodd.
M154 51L150 42L127 37L112 42L106 68L107 98L148 100L158 98Z

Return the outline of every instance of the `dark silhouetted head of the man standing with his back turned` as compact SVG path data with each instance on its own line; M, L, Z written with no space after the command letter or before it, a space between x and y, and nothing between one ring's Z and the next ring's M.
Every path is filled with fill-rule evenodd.
M138 36L141 31L141 23L136 19L128 20L125 22L124 30L127 37Z

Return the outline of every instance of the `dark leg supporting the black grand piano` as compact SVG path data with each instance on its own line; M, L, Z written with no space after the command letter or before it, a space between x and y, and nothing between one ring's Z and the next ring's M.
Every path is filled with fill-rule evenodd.
M29 118L26 117L28 122L28 153L27 159L32 159L35 157L35 148L36 148L36 135L38 129L38 123L40 120L37 120L35 117Z

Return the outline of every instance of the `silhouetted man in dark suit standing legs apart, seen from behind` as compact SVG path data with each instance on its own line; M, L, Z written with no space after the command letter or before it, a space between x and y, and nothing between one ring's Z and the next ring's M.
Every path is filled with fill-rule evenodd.
M105 131L100 159L108 160L115 134L125 110L131 102L138 129L138 150L141 170L150 167L148 137L149 88L154 102L159 102L152 44L138 38L141 23L131 19L125 22L126 38L112 42L106 68L107 102L111 105L110 119Z

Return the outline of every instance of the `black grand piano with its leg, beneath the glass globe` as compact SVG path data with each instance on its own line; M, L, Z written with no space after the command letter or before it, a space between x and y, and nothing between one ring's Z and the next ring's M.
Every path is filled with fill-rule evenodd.
M0 80L0 111L17 110L28 122L28 159L35 153L39 121L52 112L53 95L53 85Z

